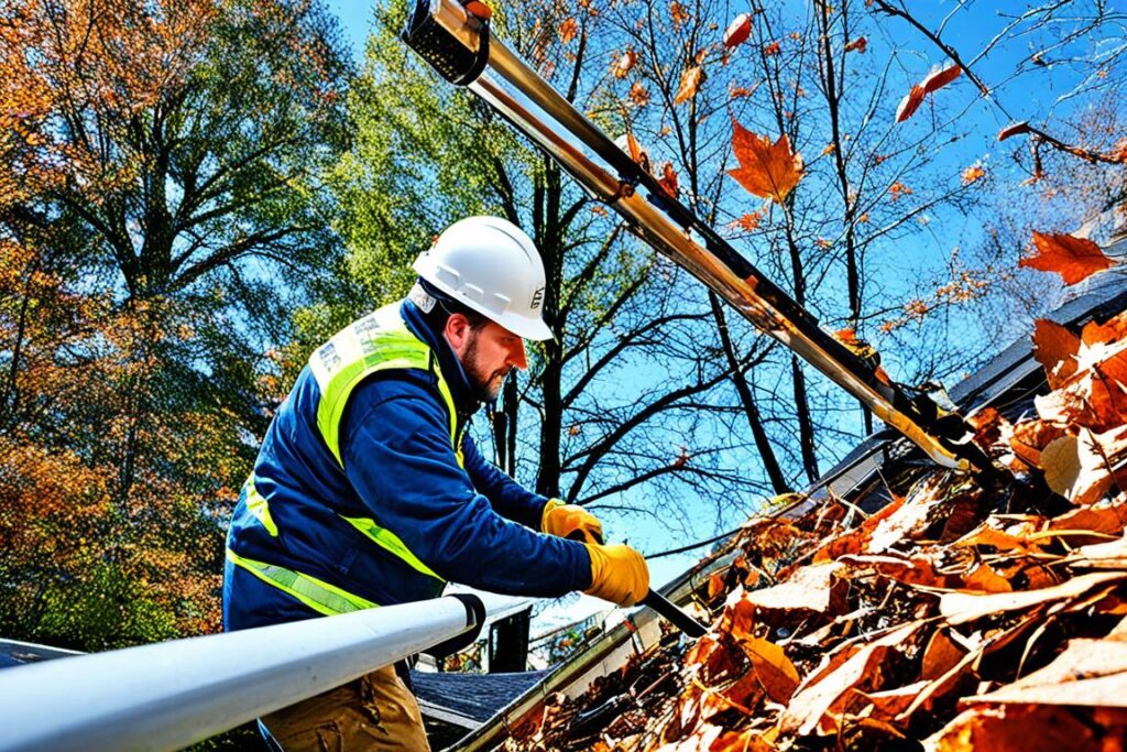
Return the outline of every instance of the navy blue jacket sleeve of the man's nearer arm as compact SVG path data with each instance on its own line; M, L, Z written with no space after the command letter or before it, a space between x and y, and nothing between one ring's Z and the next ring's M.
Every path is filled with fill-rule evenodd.
M582 543L497 514L459 466L445 408L412 380L375 379L348 400L345 474L380 525L447 581L557 598L591 586Z

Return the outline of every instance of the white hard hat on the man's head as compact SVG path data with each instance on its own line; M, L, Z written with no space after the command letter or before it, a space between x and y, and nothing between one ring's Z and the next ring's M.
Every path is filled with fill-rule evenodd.
M532 239L497 216L446 228L411 267L432 285L525 339L551 339L541 318L544 265Z

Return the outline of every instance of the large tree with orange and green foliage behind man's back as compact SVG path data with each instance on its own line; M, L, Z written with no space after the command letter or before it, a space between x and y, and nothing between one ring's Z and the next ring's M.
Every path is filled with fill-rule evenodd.
M20 0L0 39L8 631L213 630L264 343L339 256L318 191L348 134L334 21L298 0Z

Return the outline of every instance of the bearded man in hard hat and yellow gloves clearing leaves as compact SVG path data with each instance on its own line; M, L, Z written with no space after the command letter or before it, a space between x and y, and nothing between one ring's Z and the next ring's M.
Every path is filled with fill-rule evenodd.
M436 598L447 582L620 605L646 595L640 554L602 545L594 515L523 488L467 434L526 368L524 339L552 336L532 240L471 216L414 268L407 299L318 347L278 407L228 533L224 629ZM287 751L426 750L399 674L380 669L259 726Z

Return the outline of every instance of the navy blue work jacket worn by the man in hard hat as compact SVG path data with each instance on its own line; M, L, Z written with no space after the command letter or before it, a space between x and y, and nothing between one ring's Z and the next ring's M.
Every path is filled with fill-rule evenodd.
M321 389L307 365L234 510L225 629L434 598L444 581L548 598L591 586L584 546L538 532L548 499L498 470L465 435L479 404L449 344L412 302L399 315L449 386L462 462L438 379L416 368L380 371L349 393L338 461L318 430ZM364 532L373 528L378 536ZM302 582L291 582L294 573ZM311 608L302 590L309 583L330 598L339 592L341 608Z

